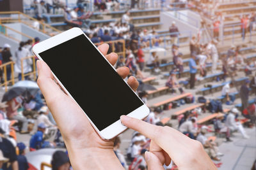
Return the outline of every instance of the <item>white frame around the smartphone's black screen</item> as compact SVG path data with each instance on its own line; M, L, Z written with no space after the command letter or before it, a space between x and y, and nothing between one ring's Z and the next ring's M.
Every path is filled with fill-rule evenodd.
M33 53L35 53L35 55L36 55L36 57L38 57L38 59L43 60L40 57L40 55L38 55L38 53L44 52L45 50L48 50L48 49L50 49L50 48L52 48L54 46L60 45L61 43L64 43L65 41L68 41L68 40L70 40L72 38L75 38L75 37L77 37L77 36L79 36L81 34L84 34L84 32L81 29L77 28L77 27L69 29L68 31L65 31L65 32L61 32L60 34L58 34L56 36L53 36L53 37L51 37L49 39L46 39L46 40L44 40L44 41L42 41L40 43L37 43L35 46L33 46L33 48L32 48ZM86 34L84 34L84 36L88 39L88 41L90 41L90 43L92 43L92 41L86 36ZM97 46L95 46L94 44L93 44L93 46L102 55L102 53L97 48ZM102 57L108 62L108 60L104 57L104 55L102 55ZM109 65L116 71L116 69L110 63L109 63ZM61 81L55 76L54 73L52 73L52 74L54 76L54 79L56 81L58 81L58 83L61 86L61 88L68 94L68 96L70 96L76 102L76 100L70 95L68 90L63 86ZM128 84L127 84L127 86L129 87ZM129 88L131 88L131 87L129 87ZM134 94L136 94L136 93L134 92ZM136 96L137 96L137 94L136 94ZM140 97L138 97L138 98L140 99ZM143 102L143 101L141 101L141 102ZM79 106L78 103L77 103L77 105ZM81 110L82 110L82 108L81 108ZM148 107L145 104L143 104L142 106L140 106L136 110L134 110L131 113L129 113L127 116L133 117L133 118L138 118L138 119L142 120L143 118L148 116L148 113L149 113ZM84 114L86 115L85 112L84 112ZM119 119L116 122L114 122L113 124L109 125L105 129L103 129L102 131L99 131L99 129L95 126L95 124L93 124L92 120L90 120L90 118L87 115L86 115L86 117L88 118L88 120L92 124L92 126L95 129L95 131L97 132L97 134L99 134L100 138L102 138L104 140L111 140L111 139L115 138L115 136L118 136L118 134L124 132L127 129L127 127L125 127L124 125L121 124L121 121Z

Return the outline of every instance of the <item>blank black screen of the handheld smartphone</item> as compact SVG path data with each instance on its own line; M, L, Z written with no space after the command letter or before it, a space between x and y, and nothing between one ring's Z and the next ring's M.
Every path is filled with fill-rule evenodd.
M100 131L143 105L84 34L39 55Z

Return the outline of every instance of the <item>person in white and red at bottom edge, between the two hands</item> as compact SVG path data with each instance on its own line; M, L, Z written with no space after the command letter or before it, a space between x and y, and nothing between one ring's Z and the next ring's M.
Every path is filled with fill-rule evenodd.
M133 160L131 165L129 166L129 170L139 170L141 168L147 168L147 164L145 161L145 152L147 150L142 149L140 155L137 155Z

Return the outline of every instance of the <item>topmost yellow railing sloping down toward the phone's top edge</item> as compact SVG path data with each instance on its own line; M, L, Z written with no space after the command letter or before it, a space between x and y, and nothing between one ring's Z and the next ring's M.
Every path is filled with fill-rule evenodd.
M17 17L1 17L1 15L17 15ZM29 21L29 22L28 22ZM29 15L26 15L20 11L3 11L0 12L0 24L3 23L12 23L12 22L20 22L23 24L28 25L29 27L33 26L31 25L33 22L39 22L33 17L30 17ZM45 34L48 34L49 36L53 36L52 32L60 33L61 31L52 27L51 25L45 24L44 22L39 22L42 27L40 27L41 32L44 32ZM51 29L51 31L47 31L46 29Z

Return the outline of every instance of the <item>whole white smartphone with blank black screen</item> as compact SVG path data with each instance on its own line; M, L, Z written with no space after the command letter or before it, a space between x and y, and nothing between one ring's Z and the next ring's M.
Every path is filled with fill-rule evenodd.
M138 119L149 109L79 28L72 28L33 46L54 78L72 97L104 140L127 129L120 116ZM76 113L74 113L76 114Z

